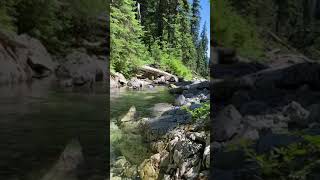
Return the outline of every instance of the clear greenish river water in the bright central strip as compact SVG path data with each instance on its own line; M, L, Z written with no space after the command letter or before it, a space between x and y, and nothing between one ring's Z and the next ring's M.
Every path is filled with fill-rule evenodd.
M124 156L132 165L139 166L151 155L150 147L139 131L125 131L116 125L130 107L135 106L138 118L150 117L157 103L173 103L174 98L166 87L146 88L143 90L112 89L110 92L111 115L111 163Z

